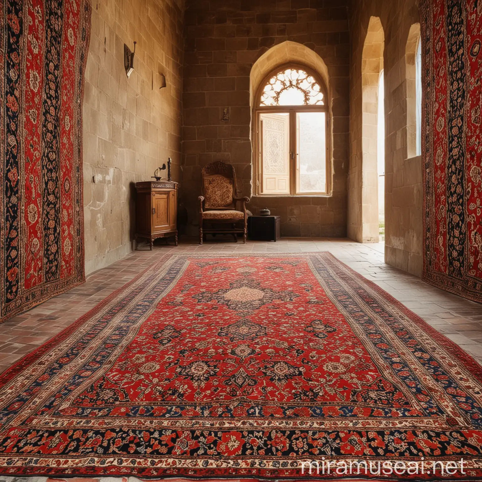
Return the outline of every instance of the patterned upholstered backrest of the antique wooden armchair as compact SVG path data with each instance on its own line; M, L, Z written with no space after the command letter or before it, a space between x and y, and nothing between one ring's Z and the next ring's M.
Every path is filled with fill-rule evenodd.
M205 209L233 208L236 174L230 164L216 161L202 168L202 195Z

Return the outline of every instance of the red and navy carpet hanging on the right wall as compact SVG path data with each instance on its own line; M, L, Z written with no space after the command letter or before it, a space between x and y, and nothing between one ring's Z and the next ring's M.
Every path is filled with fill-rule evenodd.
M424 270L482 302L482 1L425 0Z

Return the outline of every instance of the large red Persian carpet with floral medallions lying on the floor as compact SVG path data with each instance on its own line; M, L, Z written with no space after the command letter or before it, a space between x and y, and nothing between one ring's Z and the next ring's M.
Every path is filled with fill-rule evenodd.
M166 254L0 383L3 475L482 480L481 366L329 253Z

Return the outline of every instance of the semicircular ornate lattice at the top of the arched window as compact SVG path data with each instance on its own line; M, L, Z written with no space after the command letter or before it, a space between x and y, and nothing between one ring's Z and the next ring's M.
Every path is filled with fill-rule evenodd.
M319 82L307 72L287 68L268 80L261 94L260 106L322 106Z

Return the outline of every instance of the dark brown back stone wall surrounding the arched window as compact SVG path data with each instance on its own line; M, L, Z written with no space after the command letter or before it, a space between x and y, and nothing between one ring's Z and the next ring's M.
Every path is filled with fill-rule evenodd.
M198 224L201 168L235 166L243 196L252 196L252 95L256 60L282 42L305 46L326 65L333 114L333 194L252 197L255 214L281 215L282 236L343 237L347 227L348 0L188 0L183 92L182 204L187 233ZM303 52L303 49L300 49ZM308 63L311 56L281 58ZM274 66L276 67L276 66ZM222 120L225 113L228 120Z

